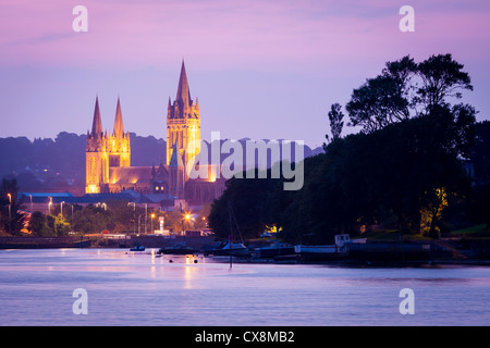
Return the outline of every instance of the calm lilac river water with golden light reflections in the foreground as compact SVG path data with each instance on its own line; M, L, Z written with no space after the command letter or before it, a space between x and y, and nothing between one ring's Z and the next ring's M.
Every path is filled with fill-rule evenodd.
M230 270L155 252L0 250L0 325L490 325L490 268ZM72 311L76 288L87 290L86 315ZM413 315L399 311L403 288L414 290Z

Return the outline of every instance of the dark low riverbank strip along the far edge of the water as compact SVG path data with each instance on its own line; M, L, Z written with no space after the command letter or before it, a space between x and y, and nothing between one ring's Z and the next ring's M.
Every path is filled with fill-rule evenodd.
M204 250L216 243L212 236L184 237L184 236L124 236L124 238L108 238L102 236L76 236L76 237L0 237L0 249L59 249L59 248L115 248L128 249L134 245L143 245L146 248L164 248L177 244L185 244L193 249ZM427 257L414 260L402 256L400 252L366 252L363 254L345 254L333 260L308 260L299 254L289 254L275 258L233 258L234 263L277 263L277 264L329 264L342 266L437 266L437 265L490 265L490 239L457 238L434 239L420 241L430 246ZM383 241L385 245L387 241ZM267 240L252 243L249 247L262 247ZM376 245L373 243L372 245ZM400 243L393 241L400 246ZM219 259L219 258L217 258ZM222 257L222 262L229 262L229 258Z

